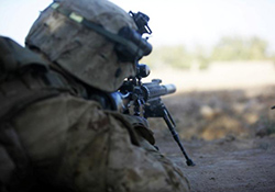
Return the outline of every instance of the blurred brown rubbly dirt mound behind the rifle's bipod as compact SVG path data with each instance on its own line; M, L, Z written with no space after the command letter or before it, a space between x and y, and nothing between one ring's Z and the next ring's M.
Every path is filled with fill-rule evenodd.
M165 98L182 138L206 140L227 135L251 137L275 133L275 87L189 92ZM166 125L150 120L165 136Z

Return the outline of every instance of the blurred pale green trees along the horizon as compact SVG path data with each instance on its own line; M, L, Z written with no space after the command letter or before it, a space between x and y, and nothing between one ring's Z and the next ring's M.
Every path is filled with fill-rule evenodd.
M268 53L268 43L260 37L224 36L208 50L202 46L193 50L184 45L155 47L142 63L151 68L204 69L212 61L233 60L275 60L275 54Z

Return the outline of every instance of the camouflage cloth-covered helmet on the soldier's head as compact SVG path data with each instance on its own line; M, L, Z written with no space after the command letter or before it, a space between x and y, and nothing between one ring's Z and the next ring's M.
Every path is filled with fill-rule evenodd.
M152 50L133 18L107 0L55 0L34 22L25 44L82 82L114 91Z

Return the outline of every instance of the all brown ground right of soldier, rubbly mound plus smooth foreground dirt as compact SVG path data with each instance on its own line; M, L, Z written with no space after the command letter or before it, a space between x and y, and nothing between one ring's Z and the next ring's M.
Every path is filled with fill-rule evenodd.
M275 87L188 92L164 103L196 166L186 166L165 124L151 120L156 145L191 191L275 191Z

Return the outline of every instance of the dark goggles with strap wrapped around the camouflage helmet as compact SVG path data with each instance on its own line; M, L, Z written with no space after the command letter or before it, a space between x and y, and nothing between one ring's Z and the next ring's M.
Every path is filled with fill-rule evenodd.
M81 15L79 15L70 10L62 8L58 2L52 3L51 8L53 8L57 12L64 14L69 20L73 20L79 24L82 24L84 26L86 26L86 27L106 36L110 41L114 42L116 43L114 49L116 49L118 57L121 61L138 63L143 56L146 56L152 52L152 45L147 42L146 38L142 37L142 33L140 32L141 26L139 26L139 24L136 23L134 16L133 16L133 15L138 15L140 12L136 14L130 12L130 15L132 14L131 16L134 19L134 21L139 27L138 32L130 29L129 26L124 26L124 27L120 29L118 34L114 34L114 33L107 31L103 26L86 20ZM140 16L139 16L139 20L140 20ZM148 18L147 18L147 20L148 20ZM143 25L143 27L144 27L144 25ZM150 30L150 32L151 32L151 30Z

